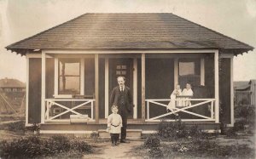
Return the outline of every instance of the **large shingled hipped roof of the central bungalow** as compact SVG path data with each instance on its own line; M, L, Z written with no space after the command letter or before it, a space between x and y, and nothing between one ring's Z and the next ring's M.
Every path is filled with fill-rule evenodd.
M253 47L175 14L83 14L6 47L26 49L173 49Z

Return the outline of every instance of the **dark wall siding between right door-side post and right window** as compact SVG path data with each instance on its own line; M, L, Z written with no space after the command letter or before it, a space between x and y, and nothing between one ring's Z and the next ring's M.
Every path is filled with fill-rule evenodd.
M146 59L146 99L169 99L173 90L173 59ZM159 116L166 108L159 105L150 107L150 115Z

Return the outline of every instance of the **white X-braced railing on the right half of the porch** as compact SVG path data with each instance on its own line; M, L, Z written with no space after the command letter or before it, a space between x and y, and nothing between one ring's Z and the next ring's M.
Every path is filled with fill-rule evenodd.
M179 99L172 99L172 102L175 102L175 107L170 110L170 112L165 111L163 114L157 115L157 116L150 116L150 104L154 104L154 106L160 106L167 108L168 103L171 101L171 99L146 99L147 103L147 117L146 122L160 122L161 120L165 121L175 121L177 119L172 119L171 117L168 117L170 115L176 115L180 112L183 112L183 114L189 114L189 116L193 116L193 118L181 118L184 122L205 122L205 121L212 121L216 122L216 116L215 110L218 110L216 108L215 99L189 99L189 98L179 98ZM208 112L207 115L202 115L198 112L189 111L190 108L195 108L198 106L204 107L205 110ZM207 108L206 108L207 107ZM159 109L159 108L158 108ZM196 109L193 109L194 111ZM158 111L159 112L159 111Z

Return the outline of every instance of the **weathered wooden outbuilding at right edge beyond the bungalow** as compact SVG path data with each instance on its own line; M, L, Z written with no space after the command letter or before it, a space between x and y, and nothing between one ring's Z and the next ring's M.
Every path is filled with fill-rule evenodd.
M256 103L256 80L234 82L235 105Z

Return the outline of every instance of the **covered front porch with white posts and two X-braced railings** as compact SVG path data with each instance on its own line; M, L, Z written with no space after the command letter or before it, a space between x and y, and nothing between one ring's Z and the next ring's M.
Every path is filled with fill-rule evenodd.
M28 55L28 67L35 56ZM154 133L160 121L177 121L175 113L182 122L199 125L205 130L219 128L218 69L214 69L218 68L218 50L158 54L139 51L136 54L72 54L51 50L43 51L37 58L42 58L40 133L99 133L105 130L110 113L108 99L112 88L117 85L117 76L125 76L128 79L125 84L132 90L135 106L128 119L131 132ZM191 64L193 76L180 73L182 65L191 67ZM69 65L77 65L77 71L68 74ZM71 77L79 78L68 83ZM195 95L177 98L175 102L189 102L191 105L177 105L171 112L166 112L173 88L177 83L184 88L186 82L193 82ZM79 84L70 88L70 83ZM30 82L29 89L32 87ZM71 94L74 92L76 94Z

